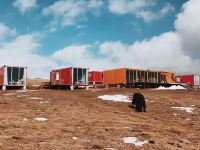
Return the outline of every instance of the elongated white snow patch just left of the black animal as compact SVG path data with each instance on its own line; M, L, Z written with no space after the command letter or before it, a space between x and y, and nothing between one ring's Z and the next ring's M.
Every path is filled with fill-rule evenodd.
M115 102L131 102L131 100L129 99L128 96L125 95L103 95L103 96L99 96L98 97L101 100L105 100L105 101L115 101Z

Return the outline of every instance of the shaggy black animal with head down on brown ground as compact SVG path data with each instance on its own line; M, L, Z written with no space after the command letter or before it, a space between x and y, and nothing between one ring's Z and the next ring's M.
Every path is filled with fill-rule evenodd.
M135 108L135 111L137 112L146 112L146 103L142 94L135 93L133 95L132 107Z

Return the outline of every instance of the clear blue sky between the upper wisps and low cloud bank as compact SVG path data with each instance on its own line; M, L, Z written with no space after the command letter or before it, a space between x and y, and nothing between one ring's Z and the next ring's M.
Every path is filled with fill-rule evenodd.
M54 4L56 0L37 1L37 7L21 14L17 7L13 7L14 0L0 0L0 20L11 28L15 28L18 34L42 32L46 36L42 39L43 55L50 54L66 45L93 44L95 42L117 41L131 44L137 40L143 40L163 32L174 30L173 21L180 11L184 0L159 1L152 11L164 7L166 3L175 8L166 16L151 22L144 22L142 18L136 18L131 14L112 14L106 8L100 15L86 14L87 21L74 26L58 26L57 31L48 32L48 25L53 20L52 16L43 16L42 10ZM106 1L105 1L106 2ZM120 32L119 32L120 30Z

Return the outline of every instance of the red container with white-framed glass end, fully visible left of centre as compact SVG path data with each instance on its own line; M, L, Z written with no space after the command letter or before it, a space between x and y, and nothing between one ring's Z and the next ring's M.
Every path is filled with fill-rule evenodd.
M86 86L88 85L88 69L62 68L50 72L51 85Z

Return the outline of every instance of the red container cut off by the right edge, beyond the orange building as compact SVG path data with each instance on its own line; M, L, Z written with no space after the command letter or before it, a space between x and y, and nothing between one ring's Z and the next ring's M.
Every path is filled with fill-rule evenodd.
M191 86L200 85L200 76L199 75L180 75L176 76L176 83L187 84Z

